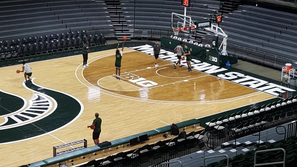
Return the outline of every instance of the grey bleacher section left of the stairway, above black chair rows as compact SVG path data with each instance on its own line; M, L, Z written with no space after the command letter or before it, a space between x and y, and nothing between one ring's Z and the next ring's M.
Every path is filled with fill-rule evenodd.
M104 1L0 1L0 39L112 28Z

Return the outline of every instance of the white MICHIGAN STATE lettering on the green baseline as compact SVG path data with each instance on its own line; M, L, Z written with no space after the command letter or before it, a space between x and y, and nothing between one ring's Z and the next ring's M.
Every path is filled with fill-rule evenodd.
M151 45L131 47L131 49L135 49L137 51L140 51L149 55L153 54L153 47ZM161 54L159 55L159 58L162 58L172 63L175 63L176 61L178 61L176 53L173 53L164 49L161 49ZM215 61L214 58L210 58L210 59L212 61ZM206 62L201 62L194 58L192 58L191 64L192 64L192 68L197 71L200 71L218 78L222 78L230 82L249 87L251 89L266 92L278 97L281 97L281 93L284 93L287 91L290 91L290 92L295 91L294 89L286 88L284 86L280 86L274 83L269 83L262 79L254 78L249 75L244 75L239 72L231 72L226 68L221 68L219 66L211 65ZM182 65L186 65L186 60L182 61Z

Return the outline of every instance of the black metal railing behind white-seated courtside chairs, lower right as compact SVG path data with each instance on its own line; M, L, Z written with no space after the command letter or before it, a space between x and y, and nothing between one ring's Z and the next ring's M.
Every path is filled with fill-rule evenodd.
M245 117L246 119L240 119L238 122L230 122L227 127L221 130L210 130L206 134L208 137L207 146L209 148L214 148L222 143L238 140L239 138L255 133L259 133L260 140L261 131L277 127L291 121L293 122L285 125L285 133L279 133L278 127L276 132L279 135L285 135L285 139L297 134L297 125L295 122L295 120L297 120L296 106L288 107L282 110L274 110L272 112L266 111L257 115L258 116L253 116L252 118Z

